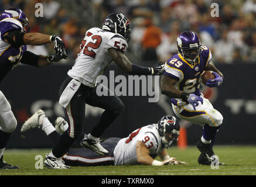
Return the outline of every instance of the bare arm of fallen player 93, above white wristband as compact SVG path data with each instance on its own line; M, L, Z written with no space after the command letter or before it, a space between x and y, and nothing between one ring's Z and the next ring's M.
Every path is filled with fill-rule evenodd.
M141 141L136 143L136 154L137 161L141 164L151 165L154 161L153 158L149 155L150 151L146 148L145 144Z

